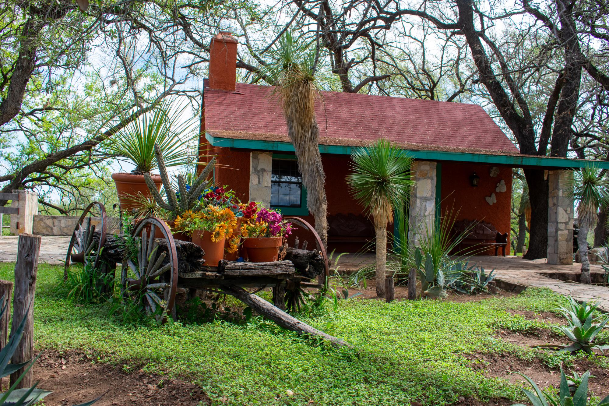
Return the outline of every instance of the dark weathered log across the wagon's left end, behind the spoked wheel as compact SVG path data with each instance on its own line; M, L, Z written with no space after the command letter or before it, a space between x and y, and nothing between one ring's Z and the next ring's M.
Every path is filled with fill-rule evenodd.
M93 239L99 241L99 233L95 232ZM123 235L108 235L104 244L101 258L106 262L122 263L122 257L125 250L125 240ZM178 271L179 272L194 272L200 271L205 263L205 252L197 244L189 241L174 240L175 251L178 254ZM163 238L158 240L158 252L167 251L167 241ZM167 255L169 258L169 255Z

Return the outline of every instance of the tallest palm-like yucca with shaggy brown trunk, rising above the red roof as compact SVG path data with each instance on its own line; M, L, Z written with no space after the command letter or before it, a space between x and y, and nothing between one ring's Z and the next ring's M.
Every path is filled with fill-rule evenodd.
M323 81L318 54L319 46L303 43L287 30L267 52L269 61L264 71L276 84L275 94L281 101L287 134L307 189L307 208L315 218L315 231L327 245L326 174L319 153L319 126L315 117L315 99L320 97Z

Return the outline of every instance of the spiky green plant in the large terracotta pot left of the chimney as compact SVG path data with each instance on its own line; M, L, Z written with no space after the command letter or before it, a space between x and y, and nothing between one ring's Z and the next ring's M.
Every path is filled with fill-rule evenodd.
M171 110L169 105L157 106L127 124L119 134L108 138L108 151L118 160L135 165L133 174L143 175L157 169L155 146L163 153L165 166L188 162L186 144L197 137L197 120L184 120L187 105Z

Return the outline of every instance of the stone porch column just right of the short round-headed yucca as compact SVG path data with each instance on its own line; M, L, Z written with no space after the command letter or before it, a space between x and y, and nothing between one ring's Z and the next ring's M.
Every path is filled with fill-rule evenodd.
M415 161L410 169L417 184L410 190L409 239L417 244L419 236L434 230L436 163Z

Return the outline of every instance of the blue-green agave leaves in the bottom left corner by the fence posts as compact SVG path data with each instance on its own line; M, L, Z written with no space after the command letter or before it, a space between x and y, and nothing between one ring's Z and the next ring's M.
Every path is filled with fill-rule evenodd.
M1 303L4 304L0 309L0 317L4 315L7 310L9 301L5 300L5 296L2 296ZM19 379L10 386L9 390L4 393L0 393L0 406L30 406L36 402L41 401L44 397L51 394L51 391L45 391L37 388L38 382L35 383L31 388L16 389L19 382L23 380L30 368L32 368L34 360L29 360L18 364L9 364L10 358L13 357L21 337L23 337L23 330L26 328L27 316L21 320L19 326L14 332L11 332L9 342L6 344L2 351L0 351L0 378L4 378L12 374L13 372L19 371L21 368L26 368L25 371L19 376ZM101 396L100 396L101 397ZM99 401L100 397L93 401L86 402L76 406L90 406L95 402Z

